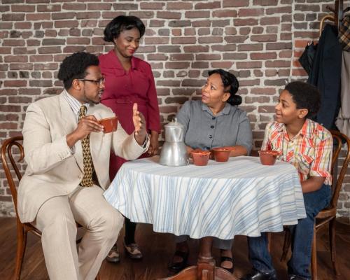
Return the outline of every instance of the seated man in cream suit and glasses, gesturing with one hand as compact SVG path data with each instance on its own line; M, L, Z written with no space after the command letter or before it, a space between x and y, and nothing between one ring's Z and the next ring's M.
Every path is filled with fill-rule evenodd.
M110 184L110 151L133 160L148 149L137 104L131 135L120 124L116 132L104 133L98 123L114 116L99 104L104 78L98 64L86 52L66 57L58 72L65 90L31 104L22 131L27 170L20 181L18 214L42 232L50 279L95 278L123 225L123 216L102 195ZM76 222L87 230L78 250Z

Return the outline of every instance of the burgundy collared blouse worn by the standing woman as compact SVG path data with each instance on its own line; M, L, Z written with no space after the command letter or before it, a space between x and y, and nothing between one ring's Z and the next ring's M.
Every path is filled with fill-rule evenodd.
M102 104L109 106L125 131L134 131L132 104L139 105L148 130L160 132L160 113L151 65L132 57L129 71L125 71L114 50L99 56L99 67L106 77Z

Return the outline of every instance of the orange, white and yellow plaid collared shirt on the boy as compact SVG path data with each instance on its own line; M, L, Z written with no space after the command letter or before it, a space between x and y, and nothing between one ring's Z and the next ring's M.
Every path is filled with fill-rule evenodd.
M325 177L325 185L332 185L332 134L322 125L306 119L300 132L289 139L286 125L276 121L267 124L262 150L281 151L279 160L290 162L299 172L300 181L310 176Z

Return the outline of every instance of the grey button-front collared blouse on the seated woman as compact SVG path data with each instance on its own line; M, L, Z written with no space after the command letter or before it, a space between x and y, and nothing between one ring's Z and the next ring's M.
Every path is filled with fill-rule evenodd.
M183 104L177 120L185 127L185 144L191 148L210 150L223 146L244 146L251 152L251 125L246 112L225 104L216 114L202 101L188 101Z

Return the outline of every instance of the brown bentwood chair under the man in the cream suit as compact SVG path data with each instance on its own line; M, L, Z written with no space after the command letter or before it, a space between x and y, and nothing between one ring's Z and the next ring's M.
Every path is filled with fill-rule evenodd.
M15 274L13 276L14 280L20 280L23 257L25 255L25 247L27 244L27 233L31 232L37 237L41 238L41 232L35 228L31 223L22 223L20 218L18 218L17 209L17 189L15 184L15 179L13 173L11 173L11 167L17 176L18 182L22 179L22 174L20 173L19 164L23 162L25 158L25 151L22 146L23 137L17 136L7 139L3 142L1 146L1 162L3 170L6 174L6 179L8 181L8 186L10 187L10 192L13 198L13 204L15 205L16 220L17 220L17 253L16 253L16 263L15 263ZM13 146L16 146L19 151L15 151ZM17 153L16 153L17 152ZM17 159L17 160L16 160ZM81 227L78 225L77 227ZM97 274L96 280L100 280L99 274Z

